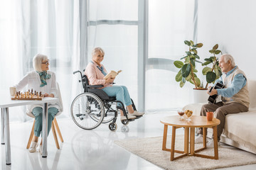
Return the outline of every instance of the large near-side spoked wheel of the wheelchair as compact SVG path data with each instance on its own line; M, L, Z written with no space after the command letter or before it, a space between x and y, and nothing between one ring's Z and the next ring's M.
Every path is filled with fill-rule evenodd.
M70 113L76 125L85 130L92 130L102 123L105 108L98 96L83 93L75 97Z

